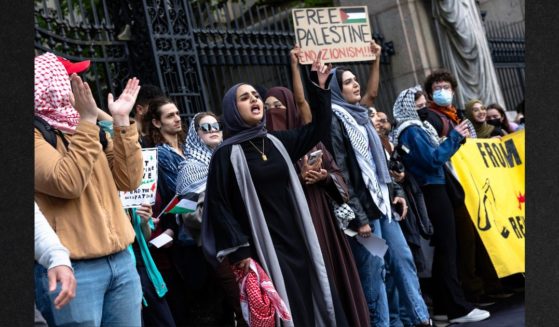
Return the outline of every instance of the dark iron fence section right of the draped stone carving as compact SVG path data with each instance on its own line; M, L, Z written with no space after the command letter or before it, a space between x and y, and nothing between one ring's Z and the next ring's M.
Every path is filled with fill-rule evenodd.
M514 110L524 100L525 91L525 33L524 22L507 24L486 21L485 33L506 110Z

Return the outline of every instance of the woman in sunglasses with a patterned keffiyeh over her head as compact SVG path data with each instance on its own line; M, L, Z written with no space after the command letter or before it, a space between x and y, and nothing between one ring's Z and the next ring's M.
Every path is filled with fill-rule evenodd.
M224 261L217 269L204 259L200 229L206 194L206 181L210 160L214 150L223 141L221 122L212 112L199 112L190 121L184 143L185 161L177 174L176 194L197 203L196 211L181 215L180 229L193 239L189 246L191 254L184 260L184 269L189 276L199 276L190 297L197 299L201 316L212 325L234 325L233 312L237 326L246 326L239 303L239 289L228 262ZM185 258L186 259L186 258ZM227 301L227 303L224 303Z

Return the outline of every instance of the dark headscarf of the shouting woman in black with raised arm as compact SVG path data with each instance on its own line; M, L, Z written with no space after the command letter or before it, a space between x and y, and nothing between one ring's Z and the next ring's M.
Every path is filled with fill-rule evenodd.
M239 144L255 137L263 137L267 134L265 116L258 124L250 126L239 114L239 109L237 108L237 89L244 84L246 83L234 85L223 96L221 110L228 138L225 139L218 148L229 144Z

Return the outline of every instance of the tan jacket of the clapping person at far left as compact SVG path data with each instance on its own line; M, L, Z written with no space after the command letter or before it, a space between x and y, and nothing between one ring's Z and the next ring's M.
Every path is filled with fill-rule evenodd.
M134 240L117 190L140 185L138 131L131 123L114 134L103 153L99 127L89 122L66 135L68 149L59 136L54 149L35 130L35 201L73 260L113 254Z

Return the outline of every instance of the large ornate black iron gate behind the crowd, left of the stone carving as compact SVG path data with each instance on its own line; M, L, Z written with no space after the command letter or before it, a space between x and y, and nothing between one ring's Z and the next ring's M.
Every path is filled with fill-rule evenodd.
M176 101L181 115L221 113L221 99L235 83L291 87L289 51L295 43L291 8L281 2L187 0L35 0L35 47L70 60L91 59L86 73L105 108L138 76ZM392 42L383 45L377 106L391 107ZM370 63L348 63L366 79Z

